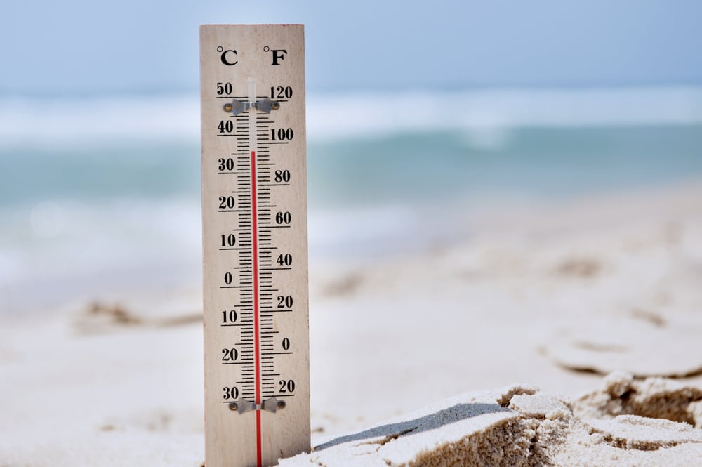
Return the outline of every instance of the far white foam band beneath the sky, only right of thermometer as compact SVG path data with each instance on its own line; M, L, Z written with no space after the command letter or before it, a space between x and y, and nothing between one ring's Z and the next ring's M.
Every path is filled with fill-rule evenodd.
M457 93L312 96L311 138L395 131L519 126L616 126L702 122L702 88L483 90Z

